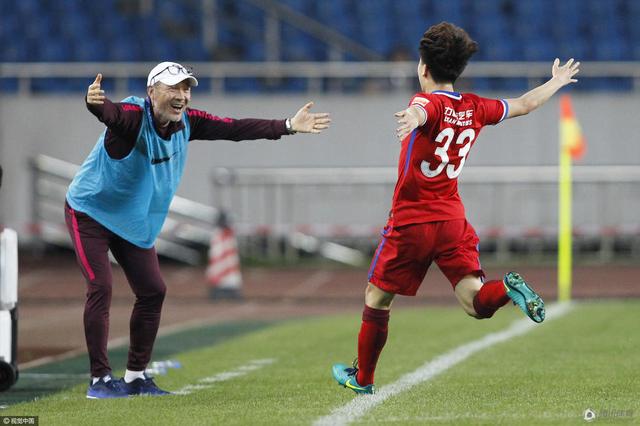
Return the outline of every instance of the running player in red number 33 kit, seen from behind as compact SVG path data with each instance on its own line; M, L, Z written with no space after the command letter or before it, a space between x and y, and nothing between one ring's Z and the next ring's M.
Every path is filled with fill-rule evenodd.
M544 302L522 277L507 273L484 281L478 236L458 195L458 176L480 130L528 114L561 87L574 83L579 63L556 59L552 78L517 99L486 99L458 93L453 84L477 44L461 28L442 22L420 40L418 78L422 92L395 115L402 141L391 212L369 269L358 358L353 367L333 366L333 377L356 393L375 392L374 371L387 340L396 294L414 296L435 262L454 288L464 311L490 318L509 300L542 322Z

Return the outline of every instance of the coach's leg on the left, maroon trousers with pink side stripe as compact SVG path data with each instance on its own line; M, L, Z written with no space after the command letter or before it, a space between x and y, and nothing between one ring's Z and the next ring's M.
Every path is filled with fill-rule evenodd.
M84 334L89 353L91 383L87 398L127 396L111 376L107 357L112 275L108 256L110 232L88 215L65 204L67 230L76 260L87 282Z

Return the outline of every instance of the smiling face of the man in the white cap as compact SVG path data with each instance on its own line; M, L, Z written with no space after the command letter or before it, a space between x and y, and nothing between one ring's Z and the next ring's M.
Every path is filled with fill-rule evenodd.
M191 100L191 86L187 80L173 86L156 83L147 89L153 105L153 118L160 127L171 121L180 121Z

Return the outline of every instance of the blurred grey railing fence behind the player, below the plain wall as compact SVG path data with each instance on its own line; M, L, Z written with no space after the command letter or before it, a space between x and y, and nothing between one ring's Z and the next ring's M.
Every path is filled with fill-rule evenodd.
M393 167L219 168L214 203L233 213L244 251L263 247L273 258L295 257L282 243L298 234L367 249L379 239L396 173ZM621 253L640 256L640 223L630 204L640 166L574 166L573 175L577 251L603 262ZM557 186L555 166L465 168L460 190L481 250L498 260L555 252L557 204L549 200L557 200Z

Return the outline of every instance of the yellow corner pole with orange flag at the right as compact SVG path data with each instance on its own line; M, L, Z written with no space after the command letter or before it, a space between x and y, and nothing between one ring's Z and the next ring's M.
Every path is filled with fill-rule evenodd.
M573 114L571 97L560 96L560 179L558 191L558 300L571 300L572 228L571 160L584 155L586 144Z

